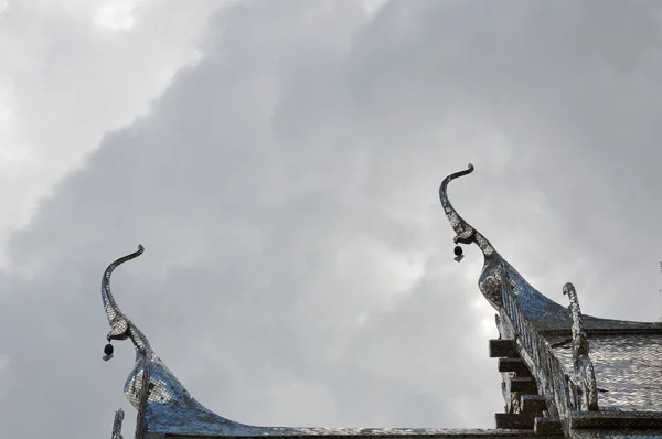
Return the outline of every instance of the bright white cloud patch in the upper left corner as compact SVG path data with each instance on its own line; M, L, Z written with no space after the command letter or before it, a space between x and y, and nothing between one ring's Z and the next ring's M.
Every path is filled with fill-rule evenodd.
M29 222L39 199L105 132L146 115L173 75L200 61L195 45L205 20L227 3L8 3L0 19L0 243ZM98 20L130 32L109 39L95 28Z

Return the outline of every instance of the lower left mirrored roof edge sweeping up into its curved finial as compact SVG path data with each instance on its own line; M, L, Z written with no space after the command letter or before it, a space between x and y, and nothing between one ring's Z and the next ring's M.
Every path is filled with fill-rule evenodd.
M138 251L110 264L102 281L102 299L110 323L111 340L129 339L136 349L136 363L125 385L125 394L138 410L137 438L146 433L217 436L441 436L441 437L528 437L521 430L444 428L306 428L256 427L232 421L196 401L163 362L154 354L145 334L120 311L110 289L110 275L119 265L140 256Z

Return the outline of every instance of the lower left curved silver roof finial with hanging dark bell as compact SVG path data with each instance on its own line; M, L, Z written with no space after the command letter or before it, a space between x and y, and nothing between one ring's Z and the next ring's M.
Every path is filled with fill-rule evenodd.
M104 308L106 309L106 315L108 317L108 323L110 324L110 332L106 335L108 341L111 340L126 340L131 339L136 351L141 353L151 352L151 347L147 338L140 330L121 312L113 291L110 290L110 275L113 271L126 261L129 261L138 256L142 255L145 247L138 245L138 250L129 255L122 256L119 259L113 261L106 271L104 271L104 278L102 279L102 300L104 301ZM110 354L107 354L104 360L110 360Z

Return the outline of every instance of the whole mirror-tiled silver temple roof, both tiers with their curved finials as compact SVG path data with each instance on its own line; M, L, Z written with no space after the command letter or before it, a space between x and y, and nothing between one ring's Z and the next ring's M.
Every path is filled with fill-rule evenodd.
M566 435L574 431L573 426L581 425L616 426L622 433L624 427L638 425L628 419L645 418L649 421L644 424L655 428L654 431L650 430L653 431L650 437L662 437L662 324L581 315L576 291L569 283L564 287L564 293L568 293L570 298L568 308L533 288L452 207L447 195L448 183L472 171L473 167L469 164L467 170L450 174L442 181L439 189L441 205L456 232L455 243L476 244L480 248L484 264L479 276L479 289L500 312L500 332L512 338L519 355L534 373L541 396L553 415L547 414L547 417L556 416L560 419ZM189 394L156 355L145 334L120 311L115 301L110 275L119 265L142 253L143 247L138 246L137 251L111 263L102 280L102 299L110 324L107 340L129 339L136 349L136 363L126 382L125 394L139 414L138 438L545 437L542 433L532 435L531 429L257 427L218 416ZM456 248L456 260L460 261L461 249ZM568 335L572 338L568 339ZM588 356L589 344L595 372ZM111 346L107 346L104 360L113 357L111 351ZM569 387L563 384L564 381ZM595 396L596 392L599 393L598 397ZM597 410L598 404L601 409L611 411ZM615 411L626 410L629 410L630 418L615 415ZM609 428L609 431L613 431L613 428ZM649 437L647 435L641 433L640 437Z

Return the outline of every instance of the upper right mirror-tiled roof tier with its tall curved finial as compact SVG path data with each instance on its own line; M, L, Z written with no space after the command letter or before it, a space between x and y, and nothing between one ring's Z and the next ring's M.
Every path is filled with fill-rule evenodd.
M574 431L573 421L590 428L609 422L621 422L628 428L661 426L662 324L583 315L570 283L564 287L570 298L569 310L540 293L448 200L448 183L471 172L473 165L469 164L467 170L447 176L439 188L441 205L456 233L453 242L476 244L481 250L483 268L478 285L485 299L500 311L501 336L515 341L536 379L538 393L547 397L547 407L560 418L566 435ZM589 336L592 363L588 357ZM599 392L605 390L604 386L610 386L611 390ZM628 408L636 410L631 419L617 414L613 420L613 410ZM619 430L622 428L610 431ZM598 430L594 431L595 435L587 432L581 437L601 437ZM622 430L618 437L638 436Z

